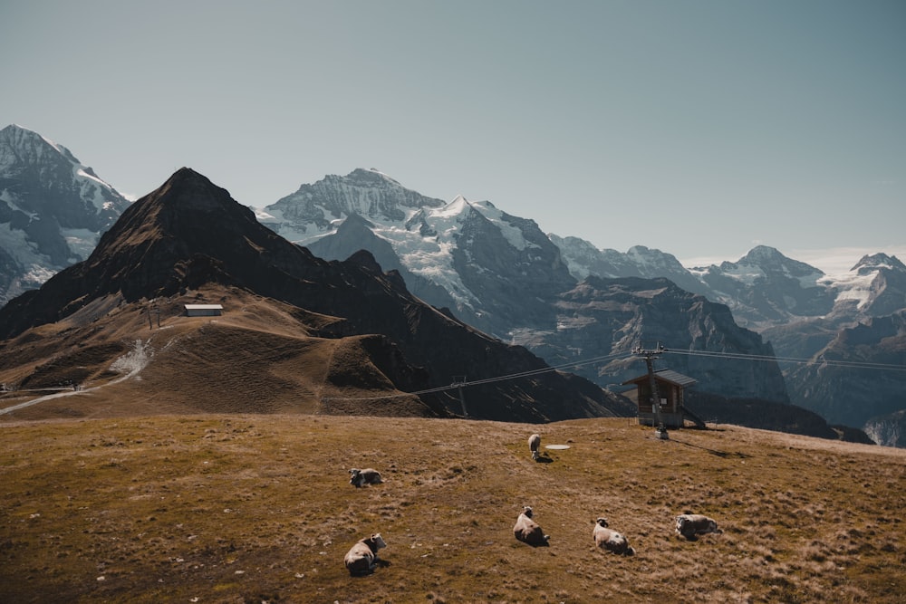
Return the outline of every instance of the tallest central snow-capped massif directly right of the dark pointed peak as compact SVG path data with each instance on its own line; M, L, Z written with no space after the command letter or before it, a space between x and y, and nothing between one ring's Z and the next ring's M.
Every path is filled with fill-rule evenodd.
M426 302L502 338L514 302L525 314L551 319L550 295L575 283L535 221L488 201L424 197L373 169L303 185L258 218L328 259L364 247Z

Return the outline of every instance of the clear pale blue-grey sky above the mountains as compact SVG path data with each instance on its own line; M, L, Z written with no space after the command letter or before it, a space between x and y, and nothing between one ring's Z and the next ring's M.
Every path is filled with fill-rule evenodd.
M133 198L378 168L684 263L906 261L902 0L0 0L0 86Z

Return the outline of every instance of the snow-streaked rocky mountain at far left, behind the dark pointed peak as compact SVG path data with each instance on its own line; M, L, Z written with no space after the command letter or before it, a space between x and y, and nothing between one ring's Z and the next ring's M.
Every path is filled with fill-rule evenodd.
M129 204L63 145L0 130L0 304L88 257Z

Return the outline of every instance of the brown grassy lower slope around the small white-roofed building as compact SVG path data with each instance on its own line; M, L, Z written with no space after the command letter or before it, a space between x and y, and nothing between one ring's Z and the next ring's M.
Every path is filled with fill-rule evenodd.
M198 301L224 302L227 311L181 316L184 303ZM149 323L148 305L110 302L0 342L0 382L15 387L0 393L0 408L72 383L84 388L0 414L0 422L181 413L350 415L363 407L371 415L428 415L414 397L358 402L398 392L373 367L368 336L310 335L333 318L235 288L211 287L156 304L159 321L152 313ZM148 366L135 379L117 383L126 369L111 368L137 347L147 351ZM330 409L323 407L325 398L334 401Z

